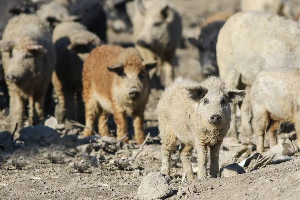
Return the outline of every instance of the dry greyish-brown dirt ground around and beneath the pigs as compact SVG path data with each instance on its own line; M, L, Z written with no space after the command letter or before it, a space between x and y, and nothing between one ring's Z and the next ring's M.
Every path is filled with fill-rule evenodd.
M239 0L170 1L182 16L185 38L198 36L199 26L208 14L217 11L235 12L239 8ZM128 8L129 15L133 16L133 4L128 4ZM132 42L129 34L115 35L109 32L108 35L111 43ZM176 68L176 76L201 81L198 51L188 42L186 46L185 49L177 50L179 67ZM136 198L144 176L159 171L161 167L156 104L162 90L151 92L145 112L146 133L150 133L151 139L136 158L140 146L134 141L123 144L113 138L98 139L96 136L88 140L82 138L82 130L79 128L65 131L55 126L59 134L56 140L53 136L50 145L47 143L48 138L41 136L40 140L29 137L25 142L17 141L7 149L0 146L0 199ZM5 130L6 125L7 118L5 111L2 111L0 131ZM111 132L114 132L115 125L111 123L109 126ZM133 134L131 124L129 134ZM244 146L250 149L251 145L255 146L235 144L235 147L242 149L237 152L242 153L236 159L231 157L232 162L222 160L221 166L240 162L249 155L248 150L244 151ZM228 150L224 145L222 149L222 152L230 152L231 148ZM254 151L252 149L249 152ZM264 165L253 171L245 167L246 173L233 177L181 182L182 163L178 152L174 152L171 169L174 195L169 199L299 199L300 158L297 155L291 161ZM195 152L192 165L195 168Z

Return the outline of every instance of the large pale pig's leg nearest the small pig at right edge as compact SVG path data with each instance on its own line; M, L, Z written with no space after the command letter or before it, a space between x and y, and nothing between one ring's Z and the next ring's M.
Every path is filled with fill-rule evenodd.
M244 136L251 137L253 135L251 123L249 123L250 114L249 114L249 107L250 107L250 89L251 87L247 86L245 91L248 95L244 97L241 104L241 127L242 127L242 134Z

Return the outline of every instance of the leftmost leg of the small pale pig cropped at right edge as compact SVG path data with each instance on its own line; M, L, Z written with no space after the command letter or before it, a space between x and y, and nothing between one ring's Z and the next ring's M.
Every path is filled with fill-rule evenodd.
M256 109L253 107L253 129L257 134L257 151L263 153L264 151L264 135L265 129L269 124L268 113L265 110Z

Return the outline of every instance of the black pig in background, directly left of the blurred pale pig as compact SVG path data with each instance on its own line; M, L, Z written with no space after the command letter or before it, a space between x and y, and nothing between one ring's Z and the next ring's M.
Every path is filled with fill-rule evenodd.
M72 7L72 14L80 16L80 23L102 41L107 42L107 17L99 0L82 0Z

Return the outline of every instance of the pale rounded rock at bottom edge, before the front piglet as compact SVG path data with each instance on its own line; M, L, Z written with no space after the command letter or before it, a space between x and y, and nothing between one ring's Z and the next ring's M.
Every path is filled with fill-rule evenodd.
M141 181L137 196L139 199L164 199L173 195L169 178L160 172L149 173Z

